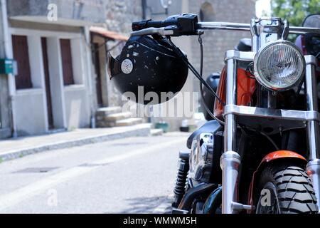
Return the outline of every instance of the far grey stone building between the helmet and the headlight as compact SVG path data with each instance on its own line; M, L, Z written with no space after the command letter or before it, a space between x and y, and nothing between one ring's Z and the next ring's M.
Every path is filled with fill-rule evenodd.
M181 13L198 14L199 19L201 9L204 19L207 21L229 21L239 23L250 23L255 16L255 0L173 0L169 6L168 14L164 14L164 9L159 1L147 0L148 11L147 18L163 20L167 16ZM159 14L161 13L162 14ZM223 68L225 51L233 49L240 38L250 37L250 32L239 31L206 31L203 35L204 59L203 59L203 77L210 73L219 72ZM200 48L197 36L183 36L173 38L174 43L186 52L188 60L195 66L200 67ZM189 72L181 93L198 92L199 81ZM193 100L183 100L183 107L189 105L193 107L193 113L199 111L200 95L196 95ZM167 105L167 104L165 104ZM169 101L169 107L174 107L174 99ZM154 118L153 121L164 120L170 125L170 130L178 130L181 121L188 119L193 123L192 118L184 116L183 118Z

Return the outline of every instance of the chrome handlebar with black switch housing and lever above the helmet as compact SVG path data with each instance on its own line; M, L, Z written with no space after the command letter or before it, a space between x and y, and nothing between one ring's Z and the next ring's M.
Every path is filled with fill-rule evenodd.
M266 28L268 26L265 26ZM250 31L250 24L231 22L198 22L196 14L181 14L169 16L164 21L144 20L132 24L132 36L160 34L163 36L196 35L198 30L235 30ZM289 26L289 33L306 34L313 33L320 36L320 28L307 28Z

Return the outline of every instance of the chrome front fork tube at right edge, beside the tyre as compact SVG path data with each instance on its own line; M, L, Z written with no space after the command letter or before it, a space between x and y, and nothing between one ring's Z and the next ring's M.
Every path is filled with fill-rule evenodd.
M314 56L305 56L306 59L306 108L309 111L318 112L318 95L316 90L316 75L314 68L316 66L316 58ZM310 120L306 124L308 146L309 146L309 162L306 165L306 172L309 175L314 186L316 201L320 209L320 159L319 159L319 122Z

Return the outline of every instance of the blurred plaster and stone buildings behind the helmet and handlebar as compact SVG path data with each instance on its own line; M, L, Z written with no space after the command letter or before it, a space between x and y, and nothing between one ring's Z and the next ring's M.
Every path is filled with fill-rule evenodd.
M14 59L18 66L16 76L0 76L0 138L141 123L142 118L121 113L123 101L106 68L107 53L119 54L132 21L183 12L199 14L201 21L248 23L255 16L254 0L0 1L0 58ZM204 76L220 71L225 51L247 36L207 32ZM175 38L174 42L199 68L197 39ZM189 73L183 91L198 91L198 87ZM183 118L153 119L160 120L177 130Z

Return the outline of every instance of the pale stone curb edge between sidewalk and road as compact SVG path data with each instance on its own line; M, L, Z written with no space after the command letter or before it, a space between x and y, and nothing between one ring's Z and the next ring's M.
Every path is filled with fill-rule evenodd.
M120 138L129 138L134 136L149 136L151 135L150 130L151 130L151 126L149 124L142 124L142 126L139 126L139 128L137 129L126 130L124 132L119 132L119 133L95 135L92 137L80 138L76 140L54 142L47 145L41 145L38 147L29 147L21 150L11 150L1 154L0 161L4 162L4 161L14 160L16 158L24 157L26 155L33 155L38 152L46 152L49 150L59 150L59 149L65 149L70 147L79 147L82 145L88 145L88 144L93 144L97 142L107 142L110 140L117 140Z

